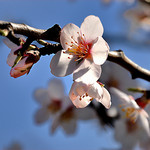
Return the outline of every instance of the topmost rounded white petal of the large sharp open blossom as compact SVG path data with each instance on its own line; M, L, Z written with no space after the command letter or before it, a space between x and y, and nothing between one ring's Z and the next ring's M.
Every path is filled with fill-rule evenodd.
M103 30L99 17L93 15L86 17L81 24L81 32L85 35L85 39L88 43L102 36Z

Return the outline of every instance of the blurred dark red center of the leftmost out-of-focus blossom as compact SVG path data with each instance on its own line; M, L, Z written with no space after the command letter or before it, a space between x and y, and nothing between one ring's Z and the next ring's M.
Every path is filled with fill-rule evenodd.
M52 100L52 102L48 105L48 109L52 113L56 113L61 109L61 101L60 100Z

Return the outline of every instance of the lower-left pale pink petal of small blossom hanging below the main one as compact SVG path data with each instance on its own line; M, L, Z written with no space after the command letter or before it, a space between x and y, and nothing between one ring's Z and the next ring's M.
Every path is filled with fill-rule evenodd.
M91 97L86 96L80 100L80 96L77 96L75 100L72 101L72 103L76 106L76 108L84 108L91 102Z

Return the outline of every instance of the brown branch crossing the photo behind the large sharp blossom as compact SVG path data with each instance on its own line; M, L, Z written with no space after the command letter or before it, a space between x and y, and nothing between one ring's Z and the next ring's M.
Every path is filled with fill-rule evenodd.
M4 30L6 34L3 35L6 37L8 36L8 38L14 43L19 43L19 39L15 38L13 34L25 35L31 39L31 41L42 39L58 42L58 44L49 43L45 47L40 48L39 51L41 55L50 55L62 50L61 44L59 44L61 28L57 24L47 30L43 30L36 29L25 24L0 21L0 30ZM125 56L123 51L110 51L107 60L117 63L123 68L127 69L131 73L132 79L141 78L150 82L150 71L131 61L127 56Z

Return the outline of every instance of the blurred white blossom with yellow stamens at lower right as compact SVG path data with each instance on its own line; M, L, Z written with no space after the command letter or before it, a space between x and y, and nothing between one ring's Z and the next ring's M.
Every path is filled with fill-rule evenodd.
M114 105L120 118L115 122L115 139L124 150L132 150L136 144L150 137L148 114L138 106L133 97L111 88Z

